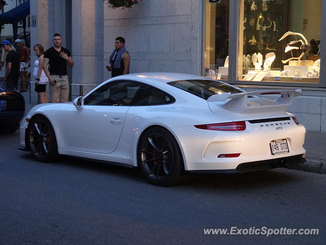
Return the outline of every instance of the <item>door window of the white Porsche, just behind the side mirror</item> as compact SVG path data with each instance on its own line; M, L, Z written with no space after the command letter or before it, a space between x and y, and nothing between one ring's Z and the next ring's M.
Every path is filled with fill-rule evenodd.
M129 106L140 86L140 83L133 81L106 83L88 95L84 100L84 105Z

